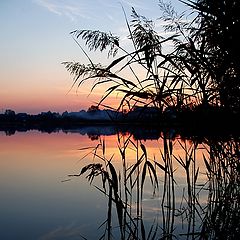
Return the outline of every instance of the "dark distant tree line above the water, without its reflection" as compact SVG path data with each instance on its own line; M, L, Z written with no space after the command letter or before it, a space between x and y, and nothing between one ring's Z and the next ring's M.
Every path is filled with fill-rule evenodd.
M218 121L216 121L216 119ZM156 128L185 128L192 130L216 129L223 131L234 130L240 121L240 114L233 113L222 107L209 106L207 109L199 105L192 111L189 108L177 110L175 107L168 107L163 112L157 107L135 106L131 111L100 110L97 106L91 106L87 111L79 112L42 112L36 115L27 113L15 113L7 109L0 114L0 131L15 132L16 130L39 130L53 132L63 129L75 129L86 125L128 125L141 126L146 128L151 123L151 127ZM194 131L195 131L194 130Z

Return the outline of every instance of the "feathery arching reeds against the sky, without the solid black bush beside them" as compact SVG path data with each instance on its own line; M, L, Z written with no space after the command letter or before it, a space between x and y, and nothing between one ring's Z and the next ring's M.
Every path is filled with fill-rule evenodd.
M165 13L171 15L166 10L170 9L169 6L162 2L160 5L162 9L165 9L163 10ZM173 11L174 9L171 8L170 12ZM134 8L132 8L132 20L130 22L124 10L123 12L132 51L122 48L119 37L111 33L108 34L99 30L75 30L71 32L74 40L76 42L80 38L84 40L90 51L108 49L108 57L114 57L114 60L107 66L103 66L101 63L95 64L77 42L86 55L89 64L63 63L74 76L73 86L80 87L84 82L94 80L92 91L99 85L108 84L107 86L109 86L110 84L99 101L99 105L110 94L121 92L123 97L120 100L119 109L123 107L131 109L136 104L142 104L156 106L162 111L169 106L180 108L193 101L195 103L207 101L210 98L210 79L206 82L197 77L197 74L193 74L192 64L186 62L188 58L183 56L183 51L187 51L184 47L187 46L187 43L180 43L181 38L178 38L178 34L186 32L187 27L180 24L181 17L178 21L175 19L175 23L179 27L176 28L178 29L176 34L164 38L154 29L154 22L137 13ZM165 20L168 18L169 16L166 16ZM187 40L188 38L184 37L184 39ZM166 44L175 45L176 48L171 51L164 51L163 48ZM121 55L119 56L119 54ZM194 66L194 69L197 69L197 67Z

